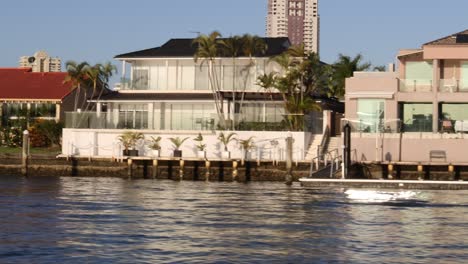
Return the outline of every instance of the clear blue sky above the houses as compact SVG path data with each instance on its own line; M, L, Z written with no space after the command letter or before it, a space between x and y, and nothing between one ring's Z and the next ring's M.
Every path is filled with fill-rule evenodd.
M114 56L170 38L213 30L264 36L266 10L267 0L3 0L0 67L45 50L63 63L120 68ZM387 65L399 49L468 29L467 10L468 0L319 0L320 58L333 63L340 53L360 53Z

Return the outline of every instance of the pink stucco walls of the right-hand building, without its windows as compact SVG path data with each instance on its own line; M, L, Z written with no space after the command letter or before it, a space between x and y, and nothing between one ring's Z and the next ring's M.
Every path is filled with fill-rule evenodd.
M401 50L398 54L396 73L360 73L346 80L345 118L357 119L357 101L361 98L385 100L385 119L398 118L399 102L425 102L433 104L433 132L426 133L353 133L352 149L356 149L358 161L430 161L431 150L443 150L447 162L468 162L468 134L438 133L438 104L468 103L468 93L444 90L440 80L460 80L460 65L468 61L468 47L462 46L423 46L422 49ZM400 88L400 80L405 79L407 62L429 61L433 64L432 88L427 90ZM446 87L446 86L444 86ZM401 137L401 138L400 138ZM436 160L441 161L441 160Z

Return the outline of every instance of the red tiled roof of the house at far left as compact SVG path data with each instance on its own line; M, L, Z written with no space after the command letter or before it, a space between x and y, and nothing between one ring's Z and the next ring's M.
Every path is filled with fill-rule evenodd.
M0 68L0 100L61 100L71 92L66 72L32 72L31 68Z

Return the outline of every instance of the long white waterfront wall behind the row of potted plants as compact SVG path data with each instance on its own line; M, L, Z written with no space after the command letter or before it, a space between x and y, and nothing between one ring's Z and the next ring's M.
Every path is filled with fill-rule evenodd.
M78 155L78 156L98 156L98 157L120 157L122 153L122 146L117 140L117 137L125 131L118 129L63 129L63 144L62 154L64 155ZM132 130L133 131L133 130ZM136 130L135 130L136 131ZM173 146L170 142L170 137L189 137L181 147L183 157L194 158L196 157L197 149L193 141L199 131L151 131L141 130L145 134L145 139L151 139L151 136L161 136L161 157L172 156ZM220 131L205 131L201 132L204 138L204 143L207 145L208 158L220 158L222 145L217 140ZM225 131L224 133L229 133ZM252 158L257 158L257 153L260 153L261 159L264 160L285 160L285 146L286 137L288 132L268 132L268 131L236 131L238 139L248 139L254 136L256 148L252 151ZM291 132L294 138L293 144L293 159L303 160L304 149L310 135L305 132ZM275 148L271 144L271 140L277 140L278 146ZM140 156L148 155L147 145L141 141L137 149ZM231 157L235 159L241 158L241 148L236 141L229 144L229 151ZM258 151L257 151L258 150Z

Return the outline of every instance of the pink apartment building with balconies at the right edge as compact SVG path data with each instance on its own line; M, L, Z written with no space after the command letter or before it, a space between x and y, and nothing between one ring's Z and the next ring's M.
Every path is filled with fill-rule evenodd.
M397 61L397 71L346 80L354 159L468 164L468 30L400 50Z

